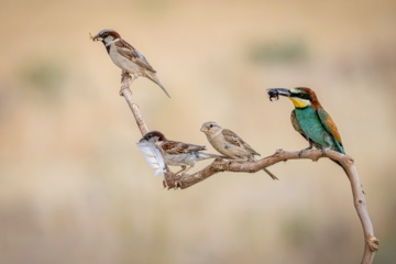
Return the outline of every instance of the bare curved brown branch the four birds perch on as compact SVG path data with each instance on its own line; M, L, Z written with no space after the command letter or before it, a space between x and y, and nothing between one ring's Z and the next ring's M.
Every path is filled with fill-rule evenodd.
M129 89L130 81L128 76L127 77L124 76L122 78L122 85L123 85L122 87L124 88L122 89L122 95L125 98L128 105L130 106L130 109L136 120L138 127L142 135L144 135L145 133L148 132L148 129L145 125L145 122L140 113L139 107L132 101L132 97L131 97L132 92ZM212 164L205 167L204 169L195 174L185 175L185 176L175 175L166 166L166 173L165 173L166 183L164 182L164 186L168 188L185 189L195 184L202 182L204 179L209 178L215 174L222 172L256 173L265 167L272 166L279 162L286 162L288 160L308 158L308 160L312 160L314 162L317 162L321 157L331 158L333 161L339 162L343 166L351 182L354 207L361 220L363 233L364 233L364 240L365 240L362 264L371 264L374 260L375 252L378 250L380 242L374 237L373 224L369 216L366 200L364 197L364 193L362 189L362 185L353 158L351 156L343 155L334 151L327 151L326 155L323 155L322 151L318 151L318 150L306 151L302 153L301 157L299 157L298 154L299 154L298 151L287 152L283 150L277 150L275 154L264 157L256 162L232 162L232 161L223 161L221 158L217 158L213 161Z

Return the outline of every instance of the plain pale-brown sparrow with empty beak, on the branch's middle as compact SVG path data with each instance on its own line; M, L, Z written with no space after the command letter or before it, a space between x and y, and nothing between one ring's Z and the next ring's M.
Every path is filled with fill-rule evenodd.
M215 147L215 150L217 150L228 158L255 162L256 160L254 158L254 156L260 156L256 151L254 151L234 132L221 128L216 122L204 123L200 131L206 134L209 143ZM263 170L267 173L273 179L278 179L268 169L263 168Z

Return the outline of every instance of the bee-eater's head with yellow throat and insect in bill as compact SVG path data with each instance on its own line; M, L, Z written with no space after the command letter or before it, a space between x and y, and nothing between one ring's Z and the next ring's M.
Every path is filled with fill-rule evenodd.
M317 101L315 91L307 87L297 87L293 89L274 88L268 89L270 100L279 96L288 97L296 108L306 108Z

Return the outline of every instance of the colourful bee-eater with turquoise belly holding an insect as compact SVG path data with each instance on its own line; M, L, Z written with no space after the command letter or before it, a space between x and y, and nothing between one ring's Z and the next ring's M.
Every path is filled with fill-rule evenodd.
M290 90L276 88L268 89L268 95L270 99L285 96L293 101L295 106L290 117L293 128L309 142L309 146L301 150L299 156L304 151L311 150L314 145L322 150L323 154L327 150L345 154L336 123L320 105L314 90L306 87Z

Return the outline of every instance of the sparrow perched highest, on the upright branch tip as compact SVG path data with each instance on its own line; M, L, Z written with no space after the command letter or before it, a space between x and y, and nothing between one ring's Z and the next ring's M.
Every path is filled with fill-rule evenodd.
M157 84L169 97L165 87L156 77L156 70L138 50L122 40L119 33L113 30L102 30L92 37L92 41L101 41L105 44L111 61L122 69L122 79L128 75L131 75L132 79L139 76L146 77ZM128 86L122 86L120 94L127 88Z

